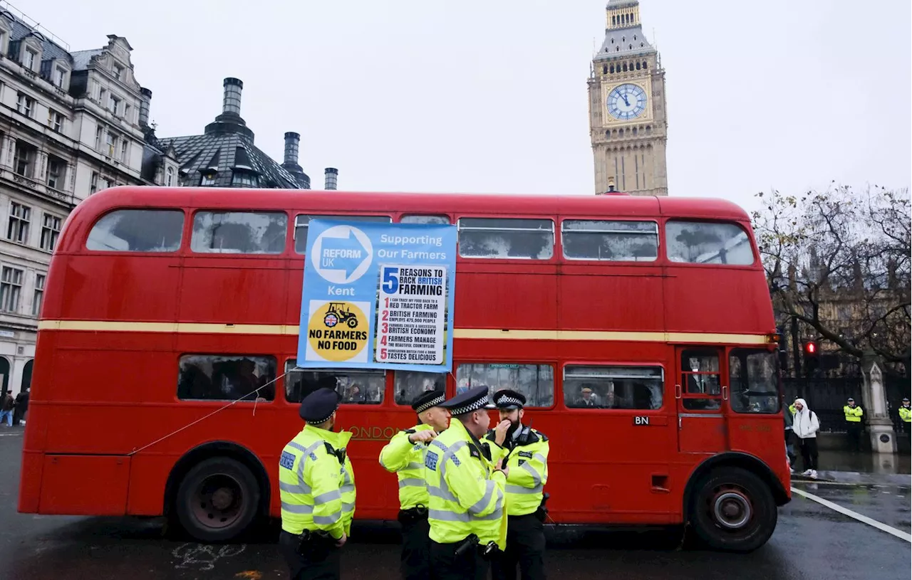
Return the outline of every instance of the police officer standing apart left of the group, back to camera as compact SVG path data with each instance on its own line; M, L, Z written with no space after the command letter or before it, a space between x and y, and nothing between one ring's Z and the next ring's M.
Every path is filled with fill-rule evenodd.
M307 424L279 459L282 534L279 548L292 580L339 577L339 549L355 514L355 474L346 445L351 432L333 432L339 396L308 394L298 412Z

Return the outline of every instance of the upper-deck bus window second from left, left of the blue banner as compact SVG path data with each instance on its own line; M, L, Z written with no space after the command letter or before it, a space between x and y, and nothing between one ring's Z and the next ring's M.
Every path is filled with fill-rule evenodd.
M190 247L202 253L281 254L287 224L279 211L198 211Z

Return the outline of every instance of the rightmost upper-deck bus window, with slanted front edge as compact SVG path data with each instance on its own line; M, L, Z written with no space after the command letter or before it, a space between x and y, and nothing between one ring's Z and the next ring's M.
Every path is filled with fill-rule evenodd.
M668 221L665 238L673 262L750 266L754 261L751 239L733 223Z

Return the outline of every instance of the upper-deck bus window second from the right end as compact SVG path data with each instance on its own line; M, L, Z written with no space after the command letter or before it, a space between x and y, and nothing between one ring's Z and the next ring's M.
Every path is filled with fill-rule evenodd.
M567 259L655 261L658 224L655 221L565 219L561 244Z

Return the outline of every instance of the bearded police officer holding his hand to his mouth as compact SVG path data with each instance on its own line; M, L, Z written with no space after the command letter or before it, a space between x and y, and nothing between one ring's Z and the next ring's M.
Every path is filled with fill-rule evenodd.
M513 580L516 566L523 580L544 580L544 484L548 481L548 438L523 425L525 396L503 389L494 393L505 431L492 430L487 439L503 449L507 477L507 546L492 562L494 580Z

